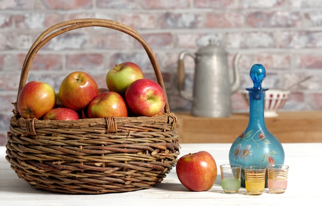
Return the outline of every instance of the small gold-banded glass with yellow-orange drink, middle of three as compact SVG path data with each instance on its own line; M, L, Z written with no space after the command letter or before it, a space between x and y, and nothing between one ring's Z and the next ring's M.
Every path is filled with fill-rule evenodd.
M261 195L265 189L266 168L248 166L244 168L245 188L248 195Z

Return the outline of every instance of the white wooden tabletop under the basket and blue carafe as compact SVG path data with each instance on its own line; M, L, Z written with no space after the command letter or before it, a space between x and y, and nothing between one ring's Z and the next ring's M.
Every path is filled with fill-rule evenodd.
M228 143L181 144L181 156L208 151L217 167L228 163ZM285 164L290 166L288 189L283 194L248 196L245 188L224 194L220 170L214 186L206 192L190 192L178 180L175 168L162 183L147 190L102 195L56 194L33 189L19 179L0 147L0 205L322 205L322 143L284 143ZM304 168L306 166L307 168Z

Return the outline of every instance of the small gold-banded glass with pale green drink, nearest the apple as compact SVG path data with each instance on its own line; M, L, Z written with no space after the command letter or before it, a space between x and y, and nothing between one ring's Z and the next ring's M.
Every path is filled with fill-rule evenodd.
M240 189L240 164L222 164L220 166L221 187L225 193L238 193Z

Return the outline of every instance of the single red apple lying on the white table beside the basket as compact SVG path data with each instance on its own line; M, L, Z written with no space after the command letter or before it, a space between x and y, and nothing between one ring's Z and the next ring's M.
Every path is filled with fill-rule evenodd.
M209 190L217 178L217 164L211 154L200 151L178 159L176 174L180 182L191 191Z

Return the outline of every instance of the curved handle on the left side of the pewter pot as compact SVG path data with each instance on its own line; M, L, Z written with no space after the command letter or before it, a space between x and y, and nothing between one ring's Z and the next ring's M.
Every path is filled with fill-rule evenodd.
M183 51L180 53L178 58L178 70L177 70L177 81L178 81L178 90L181 97L192 101L192 97L186 95L185 91L185 79L186 79L186 72L185 72L185 64L184 64L184 57L188 55L192 58L195 58L195 55L188 51Z

